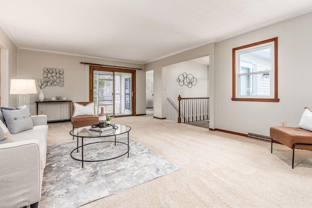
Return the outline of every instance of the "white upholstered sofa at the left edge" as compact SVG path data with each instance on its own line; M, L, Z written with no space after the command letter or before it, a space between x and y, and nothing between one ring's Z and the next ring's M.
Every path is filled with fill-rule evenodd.
M0 208L38 207L48 125L46 115L31 118L33 129L11 134L13 142L0 144Z

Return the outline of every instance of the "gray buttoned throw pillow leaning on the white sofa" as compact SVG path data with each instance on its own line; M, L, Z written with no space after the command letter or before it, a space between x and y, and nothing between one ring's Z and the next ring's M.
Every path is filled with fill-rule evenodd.
M30 117L28 108L22 108L18 110L2 109L2 113L5 124L9 132L12 134L34 128L33 120Z

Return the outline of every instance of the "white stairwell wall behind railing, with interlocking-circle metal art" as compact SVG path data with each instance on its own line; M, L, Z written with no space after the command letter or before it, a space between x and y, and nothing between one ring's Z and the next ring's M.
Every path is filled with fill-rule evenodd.
M173 65L165 66L162 69L162 99L165 101L164 110L165 117L169 120L177 121L178 112L172 106L168 97L176 103L178 103L178 95L181 97L207 97L208 96L208 86L207 86L207 65L192 63L184 61L181 63L176 63ZM197 84L189 88L188 86L180 86L177 82L179 75L186 73L191 74L197 79Z

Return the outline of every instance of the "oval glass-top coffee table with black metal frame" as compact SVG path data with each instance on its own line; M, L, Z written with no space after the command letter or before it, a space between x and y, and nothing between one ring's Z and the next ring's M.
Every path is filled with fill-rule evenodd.
M114 124L114 129L113 130L109 130L106 132L92 132L89 131L89 129L91 128L91 126L85 126L85 127L79 127L76 129L71 130L69 133L72 136L77 137L77 148L75 148L71 153L70 156L74 159L74 160L78 160L81 161L82 163L82 168L83 168L83 162L99 162L99 161L105 161L105 160L112 160L118 157L121 157L125 154L128 154L129 157L129 151L130 151L130 146L129 146L129 132L131 130L131 127L126 126L126 125L120 125L120 124ZM127 143L125 142L121 142L121 141L116 141L116 136L123 134L123 133L127 133ZM113 141L104 141L104 137L115 137L115 139ZM81 138L81 145L79 146L79 138ZM91 143L87 143L87 144L83 144L83 139L84 138L103 138L103 141L97 141L97 142L91 142ZM85 147L86 145L95 145L97 143L102 143L102 142L114 142L115 146L116 143L121 144L121 145L127 145L127 151L126 152L122 152L120 155L114 156L112 158L108 158L108 159L102 159L102 160L84 160L83 159L83 147ZM81 159L80 158L76 158L73 156L73 152L79 150L79 148L81 148Z

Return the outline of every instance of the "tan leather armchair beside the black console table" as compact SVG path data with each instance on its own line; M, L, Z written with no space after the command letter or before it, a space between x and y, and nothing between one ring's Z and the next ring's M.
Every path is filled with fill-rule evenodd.
M78 115L78 116L73 117L74 111L75 111L74 103L75 102L72 102L70 104L70 120L73 125L73 129L78 128L78 127L91 126L93 124L98 124L98 115ZM86 106L92 102L76 102L76 103ZM73 139L74 139L74 136L73 136Z

